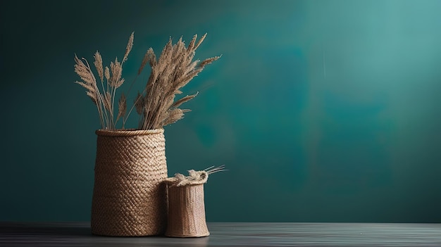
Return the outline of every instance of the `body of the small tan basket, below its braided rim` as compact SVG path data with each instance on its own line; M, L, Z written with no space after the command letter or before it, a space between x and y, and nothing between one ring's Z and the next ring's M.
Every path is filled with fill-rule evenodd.
M204 184L168 185L168 226L166 236L209 236L206 227Z

